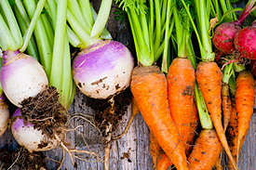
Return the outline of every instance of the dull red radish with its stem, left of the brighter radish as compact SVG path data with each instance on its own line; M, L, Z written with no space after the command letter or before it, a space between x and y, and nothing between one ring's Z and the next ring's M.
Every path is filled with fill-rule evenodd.
M238 20L224 22L215 29L212 42L216 48L226 54L232 54L236 51L234 38L236 33L242 29L242 23L252 11L255 2L256 0L250 0L248 2Z

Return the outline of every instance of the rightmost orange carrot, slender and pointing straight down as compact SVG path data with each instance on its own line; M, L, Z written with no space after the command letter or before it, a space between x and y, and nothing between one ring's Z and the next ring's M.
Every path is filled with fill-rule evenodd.
M239 148L249 130L249 121L253 113L255 98L254 79L249 71L239 72L236 78L236 111L238 119L238 138L236 145L238 162Z

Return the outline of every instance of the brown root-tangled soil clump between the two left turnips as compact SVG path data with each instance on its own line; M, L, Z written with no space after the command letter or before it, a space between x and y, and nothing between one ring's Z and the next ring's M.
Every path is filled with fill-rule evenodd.
M42 130L47 137L61 133L60 129L67 122L68 115L59 98L57 88L49 86L35 98L24 99L21 102L22 118L34 124L34 128Z

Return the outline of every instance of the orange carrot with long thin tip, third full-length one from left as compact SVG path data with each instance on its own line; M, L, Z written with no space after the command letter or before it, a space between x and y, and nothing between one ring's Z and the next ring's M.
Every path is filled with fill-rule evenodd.
M233 166L236 167L236 162L233 159L222 127L221 69L218 67L216 62L200 62L197 65L195 76L199 89L205 98L210 119L214 124L218 136L220 137L222 146L226 151L229 160Z

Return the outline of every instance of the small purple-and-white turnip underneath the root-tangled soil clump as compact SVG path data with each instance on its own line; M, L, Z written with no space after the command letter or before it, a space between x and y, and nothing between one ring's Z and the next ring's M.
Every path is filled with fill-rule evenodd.
M30 152L54 149L58 142L54 138L47 137L42 130L35 129L34 124L25 123L21 118L18 108L13 117L15 121L11 124L11 132L16 141Z

